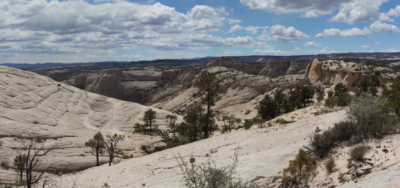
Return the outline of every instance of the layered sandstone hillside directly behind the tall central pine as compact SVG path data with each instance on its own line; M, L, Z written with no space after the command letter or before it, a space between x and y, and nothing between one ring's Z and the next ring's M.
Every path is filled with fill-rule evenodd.
M247 110L253 110L265 92L271 91L274 88L291 88L301 77L301 75L287 75L270 78L260 75L250 75L220 66L208 67L201 71L214 73L218 78L219 86L225 90L222 98L215 103L214 108L235 113L236 115L243 115ZM160 106L162 109L172 112L185 111L194 102L199 100L198 97L193 96L193 93L197 91L197 87L191 86L170 100L154 104L153 106Z

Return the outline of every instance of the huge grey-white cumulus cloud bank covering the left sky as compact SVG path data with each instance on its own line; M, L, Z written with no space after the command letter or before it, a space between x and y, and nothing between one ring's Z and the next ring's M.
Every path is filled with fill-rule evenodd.
M112 54L118 48L137 46L163 50L240 44L268 46L249 36L221 38L206 34L220 31L227 22L240 22L227 19L228 12L223 7L196 5L181 13L161 3L123 0L98 0L95 4L83 0L3 0L0 9L0 53L3 55L18 52ZM201 34L216 39L201 42L197 39Z

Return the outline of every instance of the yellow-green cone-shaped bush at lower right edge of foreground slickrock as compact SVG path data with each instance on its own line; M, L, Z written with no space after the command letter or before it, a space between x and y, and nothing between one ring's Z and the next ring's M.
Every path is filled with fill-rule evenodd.
M296 158L290 161L289 166L283 169L283 176L289 175L295 177L297 182L308 182L316 175L308 154L301 148L298 149Z

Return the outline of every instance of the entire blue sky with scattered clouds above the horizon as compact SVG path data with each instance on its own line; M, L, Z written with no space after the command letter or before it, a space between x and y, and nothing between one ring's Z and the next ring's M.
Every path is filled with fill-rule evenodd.
M0 63L400 51L400 0L0 0Z

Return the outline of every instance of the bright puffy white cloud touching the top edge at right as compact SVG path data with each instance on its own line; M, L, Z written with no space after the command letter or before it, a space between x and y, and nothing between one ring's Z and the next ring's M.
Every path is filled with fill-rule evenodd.
M349 24L370 21L379 17L379 7L388 0L351 0L340 5L339 12L331 17L331 21Z

